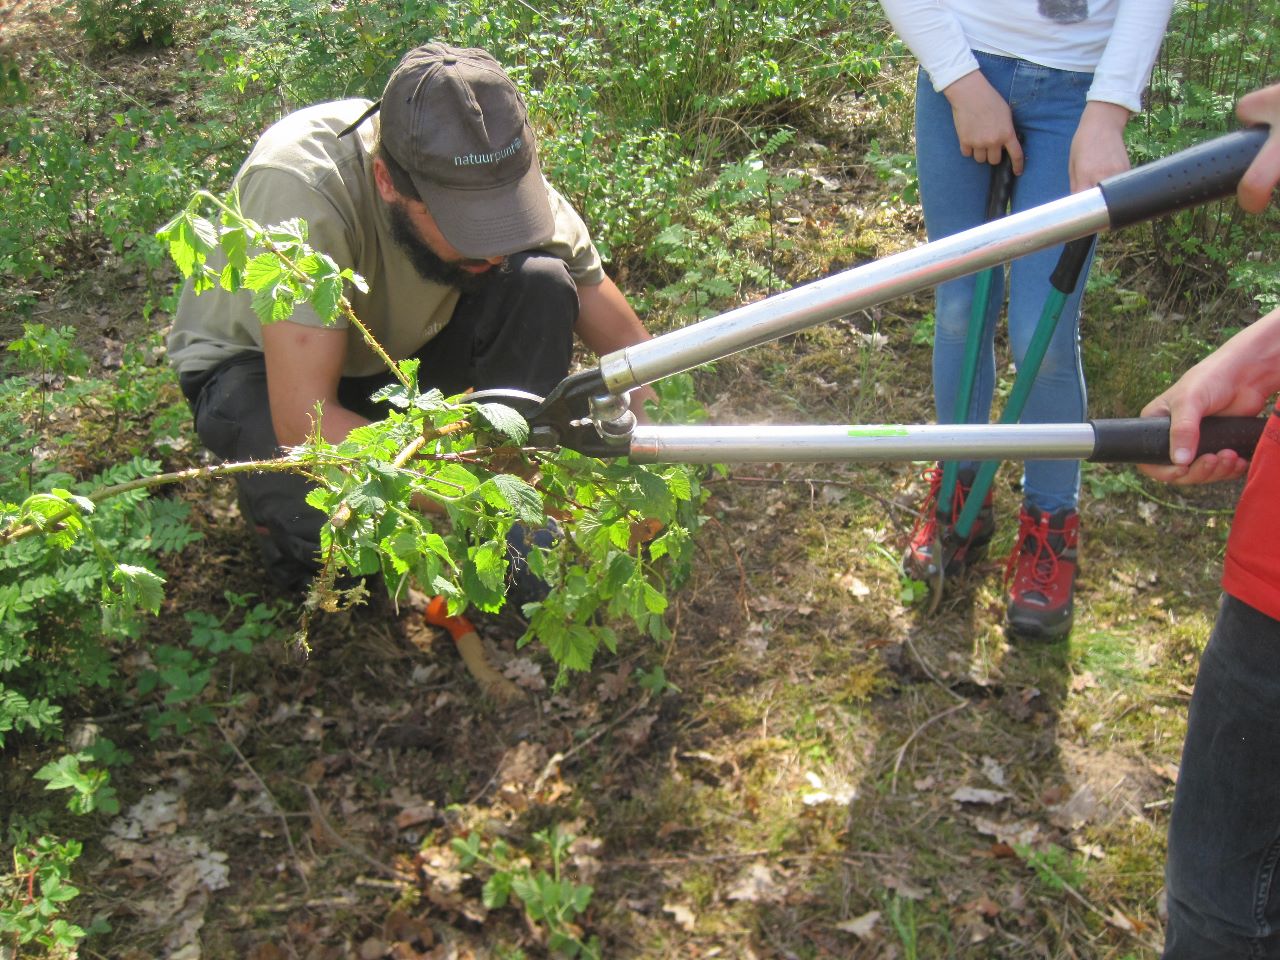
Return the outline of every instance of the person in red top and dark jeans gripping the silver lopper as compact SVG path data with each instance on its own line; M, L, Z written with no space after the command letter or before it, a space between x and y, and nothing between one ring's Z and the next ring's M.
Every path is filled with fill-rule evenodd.
M1261 212L1280 184L1280 83L1236 114L1271 136L1238 191ZM1164 960L1280 960L1280 407L1249 461L1196 457L1201 417L1256 415L1280 390L1280 310L1257 320L1143 408L1170 419L1175 484L1248 471L1222 566L1222 605L1187 717L1165 870Z

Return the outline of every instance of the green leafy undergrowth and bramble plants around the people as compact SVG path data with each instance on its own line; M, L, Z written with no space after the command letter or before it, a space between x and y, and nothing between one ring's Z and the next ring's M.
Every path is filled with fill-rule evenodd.
M131 778L140 748L225 736L219 717L243 698L224 694L223 682L237 664L297 627L300 611L250 594L214 589L207 607L178 611L166 593L172 581L189 576L183 557L204 536L183 485L228 472L193 456L188 415L160 348L173 305L170 255L198 270L215 246L230 248L230 237L242 260L241 275L228 283L270 288L279 294L275 302L319 296L339 308L337 268L305 248L301 224L276 230L274 239L283 238L292 252L273 260L261 253L257 225L192 202L200 191L220 195L270 122L317 100L376 97L401 54L416 44L447 40L490 50L525 91L549 179L582 211L611 270L654 332L867 259L886 246L886 218L918 219L905 133L908 58L872 3L573 0L538 8L520 0L234 6L69 0L50 17L58 26L52 42L10 44L14 33L0 41L0 330L8 342L0 379L0 794L22 797L5 805L0 820L12 861L0 877L0 956L73 956L108 936L104 918L78 913L84 883L72 877L81 869L79 837L101 832L123 804L140 797L143 786ZM1238 95L1274 74L1270 33L1277 19L1276 0L1178 4L1151 110L1133 124L1135 157L1162 156L1228 128ZM127 56L137 64L131 82L102 82ZM814 142L836 104L844 105L842 122L861 124L859 156L831 157ZM856 224L822 202L823 177L854 166L865 166L879 196ZM810 202L814 192L819 200ZM1220 340L1225 303L1280 298L1280 274L1266 252L1275 248L1275 216L1244 221L1230 205L1212 205L1106 239L1085 328L1096 415L1135 412ZM307 264L307 280L288 287L287 265L300 261ZM132 291L122 297L125 310L142 323L116 320L116 346L104 349L97 328L74 323L92 311L69 305L106 303L120 284ZM833 402L837 415L873 419L887 403L888 338L879 314L859 323L850 344L840 342L838 370L829 361L833 351L817 351L822 342L814 334L797 339L796 355L777 355L758 370L726 361L730 370L718 371L718 383L733 372L771 389L782 383L780 402L813 416L815 408L829 410L792 381L817 378L819 393L841 397ZM927 348L925 328L909 329L906 349ZM817 371L804 366L806 344L822 358ZM703 508L716 477L602 465L571 453L525 453L513 463L511 449L521 445L524 424L512 411L419 394L408 385L412 370L398 372L404 385L385 397L387 424L357 431L338 448L310 444L278 465L323 476L315 506L348 516L330 529L329 572L380 571L393 585L412 579L444 594L454 611L467 604L497 611L503 535L516 521L538 525L559 516L570 529L562 548L531 559L558 589L527 611L526 641L544 645L557 689L631 644L644 658L637 675L644 703L671 703L680 687L664 672L669 654L660 652L669 650L669 608L690 575L695 535L707 538ZM703 403L713 399L695 396L687 378L662 393L663 416L673 420L701 416ZM431 465L410 471L399 457L424 429L435 442ZM498 465L476 467L476 451ZM1107 486L1108 474L1091 474L1091 480L1098 499L1126 495ZM828 488L822 489L826 498ZM436 530L402 509L415 492L444 503L452 524ZM829 495L823 507L844 497ZM777 503L765 516L786 513L774 509ZM721 509L709 526L732 520ZM641 549L636 527L645 521L658 521L662 534L648 535ZM833 539L851 536L846 526L833 520L814 541L831 549ZM868 568L892 566L884 545L892 531L882 524L863 532L873 543L858 548ZM767 526L753 535L771 539ZM1140 586L1140 572L1125 575ZM892 600L910 607L916 585L886 576ZM842 577L838 589L827 585L800 605L869 593L859 576ZM321 589L316 604L340 607L348 599ZM745 643L764 644L767 636L777 643L796 630L787 616L790 608L765 609ZM1180 659L1169 668L1170 682L1184 684L1194 650L1188 636L1178 634L1176 641ZM979 644L975 659L983 671L1000 672L998 654L991 653L996 646ZM842 654L832 658L842 662ZM832 731L863 718L868 701L893 689L878 663L860 663L861 672L844 677L832 705L791 704L786 736L822 783L814 796L838 794L832 785L849 773L841 764L856 763L842 759ZM1149 664L1106 631L1089 634L1070 667L1114 694L1105 709L1121 709L1126 685L1153 682L1143 680ZM1065 667L1037 662L1029 669ZM735 700L732 684L714 695L723 698L727 726L739 714L744 728L746 718L756 723L758 704ZM1024 707L1034 700L1027 696ZM922 704L923 698L913 701ZM95 718L122 713L141 719L143 742L116 744L102 735ZM1103 710L1098 723L1108 719ZM767 750L767 713L759 723L753 749ZM1149 731L1134 736L1164 742ZM877 803L897 791L905 753L906 746L892 771L881 769L864 786ZM728 780L728 764L709 756L695 756L707 767L699 782ZM748 771L751 777L759 777L748 791L751 803L765 804L763 774ZM544 772L540 787L545 780ZM696 829L705 814L689 814L691 788L676 782L664 790L659 799L671 817L660 829ZM458 800L462 791L454 792ZM804 809L820 810L823 803ZM620 823L625 809L613 814ZM682 826L681 818L695 826ZM716 828L712 820L703 824L708 832ZM525 922L545 932L547 950L599 955L599 940L581 928L599 901L593 904L589 883L570 877L568 828L536 823L520 850L493 823L470 832L463 826L458 814L424 835L420 859L425 863L436 846L442 856L452 851L456 873L483 877L485 909L518 901ZM776 824L768 845L781 850L812 827L800 817ZM1088 851L1006 846L1007 855L998 856L1027 868L1030 896L1060 897L1064 890L1079 896L1091 869ZM772 896L756 881L731 897L739 909ZM710 908L713 883L709 874L691 872L681 904ZM840 896L847 901L849 891ZM888 884L872 902L906 955L931 955L929 945L937 955L965 936L952 929L947 908L925 902L909 884ZM983 909L974 908L977 914ZM696 925L673 908L667 911L682 927L686 920Z

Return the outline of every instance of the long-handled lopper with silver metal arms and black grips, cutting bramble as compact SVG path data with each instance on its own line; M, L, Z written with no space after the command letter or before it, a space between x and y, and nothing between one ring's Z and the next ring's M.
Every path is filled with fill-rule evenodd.
M1051 204L614 351L602 357L595 369L567 376L545 398L497 389L474 393L471 399L499 401L516 407L530 424L531 445L561 445L591 456L626 456L650 463L952 458L1167 462L1166 420L934 426L648 426L636 424L627 410L625 393L1036 250L1071 241L1088 242L1101 230L1121 229L1226 197L1266 137L1266 127L1236 131ZM1210 419L1203 426L1201 449L1233 448L1248 454L1261 422L1249 417ZM972 499L980 502L980 498Z

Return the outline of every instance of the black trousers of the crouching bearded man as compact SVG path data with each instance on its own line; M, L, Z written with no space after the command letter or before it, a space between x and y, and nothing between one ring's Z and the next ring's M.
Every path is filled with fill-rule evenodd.
M577 288L562 260L520 253L480 292L463 294L448 325L415 356L419 383L445 396L468 387L511 387L547 394L568 371L577 323ZM388 408L369 401L392 374L343 378L339 402L380 420ZM207 371L184 374L196 433L227 461L270 460L280 448L271 426L262 355L234 356ZM242 474L241 511L260 534L271 579L298 590L319 568L324 516L305 502L311 485L292 474Z

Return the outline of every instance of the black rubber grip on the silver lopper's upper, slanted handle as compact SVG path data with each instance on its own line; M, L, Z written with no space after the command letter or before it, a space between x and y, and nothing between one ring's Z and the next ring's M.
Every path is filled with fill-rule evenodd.
M1268 129L1235 131L1102 180L1098 189L1111 229L1230 196L1262 150Z

